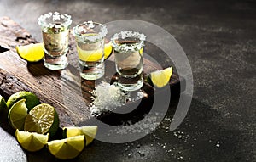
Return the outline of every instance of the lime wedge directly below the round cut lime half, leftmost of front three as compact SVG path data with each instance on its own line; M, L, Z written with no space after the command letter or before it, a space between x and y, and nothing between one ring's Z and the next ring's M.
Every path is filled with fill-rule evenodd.
M42 135L28 131L16 130L15 135L21 147L31 152L44 148L49 139L49 134Z

